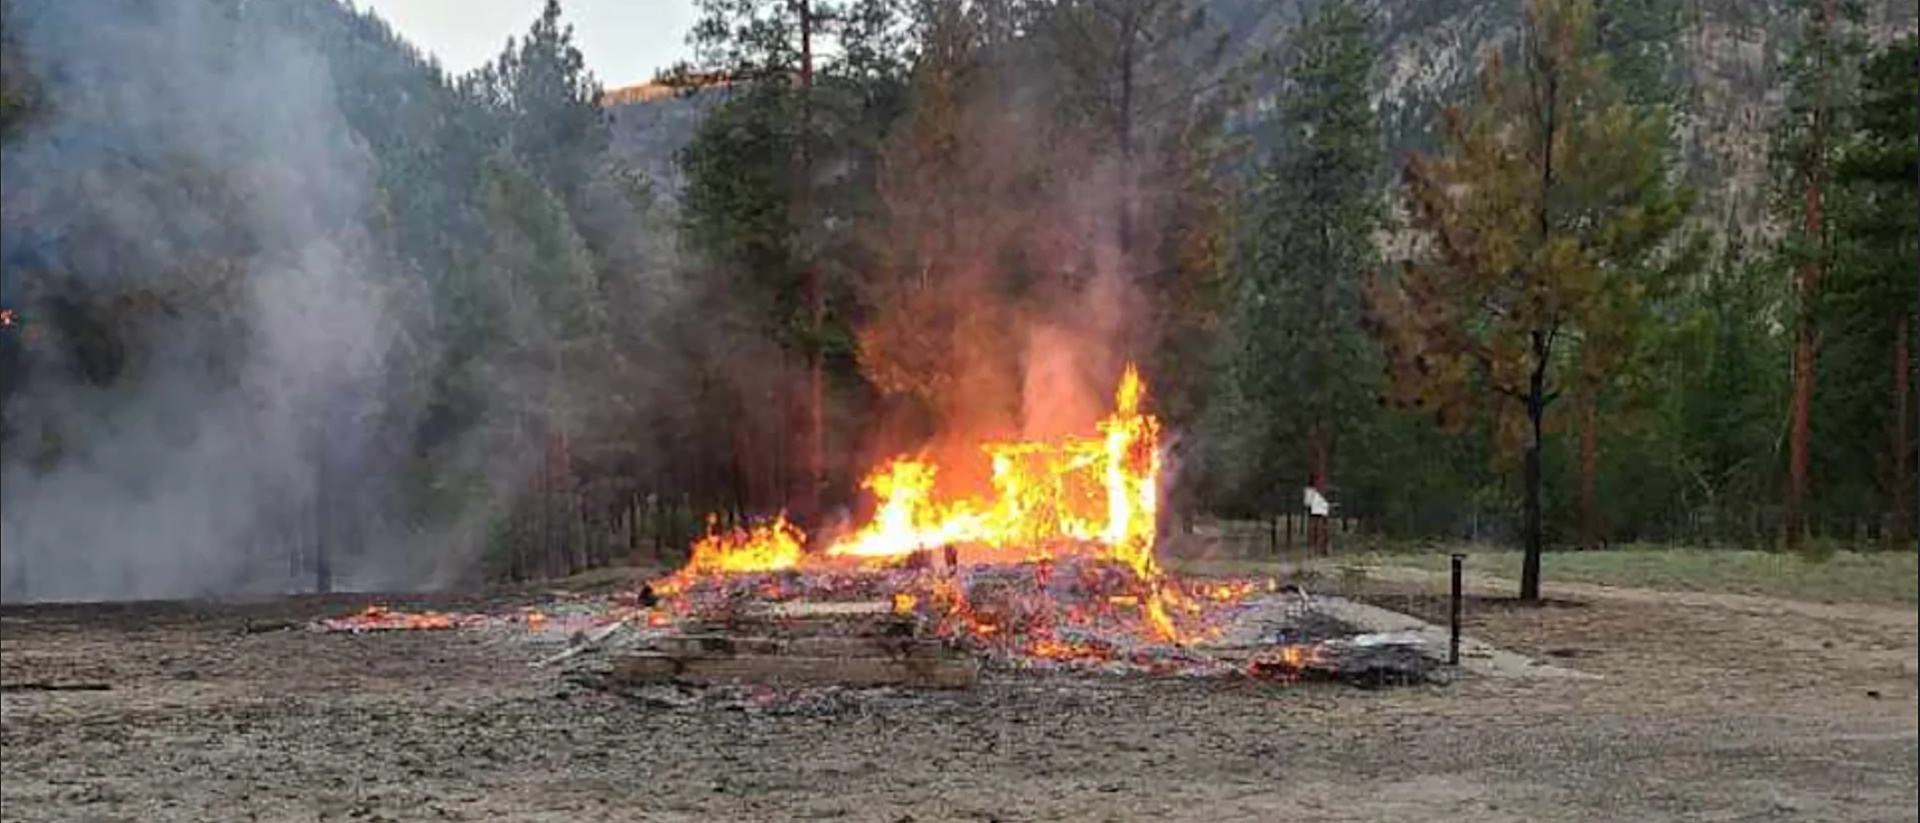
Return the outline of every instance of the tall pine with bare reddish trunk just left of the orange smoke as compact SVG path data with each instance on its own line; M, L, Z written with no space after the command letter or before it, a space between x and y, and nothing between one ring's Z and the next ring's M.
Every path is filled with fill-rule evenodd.
M701 19L689 36L697 63L680 65L666 79L682 84L724 79L739 94L722 104L722 109L743 109L728 115L716 111L685 148L687 217L695 226L724 226L735 219L783 223L776 232L783 238L774 244L791 276L774 269L760 269L756 274L774 286L768 303L774 324L783 330L781 345L804 361L804 388L795 403L801 437L793 451L799 478L783 485L793 520L810 524L824 506L822 495L829 491L831 480L826 457L828 361L852 349L845 313L835 311L845 294L841 269L851 269L843 255L847 238L835 226L851 223L843 217L864 207L872 190L876 134L897 115L897 23L893 6L885 0L701 0L699 8ZM828 52L826 44L833 50ZM753 123L756 130L724 132L712 125L724 117ZM724 144L737 152L722 150ZM768 153L776 150L785 155ZM774 169L774 163L785 163L785 169ZM818 169L835 173L822 175ZM741 200L755 192L785 200ZM708 211L722 203L743 211ZM728 249L739 249L737 242L703 228L693 234L695 247L710 263L739 263L726 255ZM770 247L766 240L758 236L753 242ZM774 274L766 276L768 272Z

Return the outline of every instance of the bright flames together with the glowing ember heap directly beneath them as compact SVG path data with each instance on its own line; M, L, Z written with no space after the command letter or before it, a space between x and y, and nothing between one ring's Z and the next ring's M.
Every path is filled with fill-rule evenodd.
M1183 587L1154 556L1160 420L1129 366L1094 435L981 445L989 489L954 495L939 468L897 457L864 485L870 522L812 543L768 524L712 531L657 583L684 618L733 602L879 600L931 637L1008 662L1144 668L1187 660L1252 583Z

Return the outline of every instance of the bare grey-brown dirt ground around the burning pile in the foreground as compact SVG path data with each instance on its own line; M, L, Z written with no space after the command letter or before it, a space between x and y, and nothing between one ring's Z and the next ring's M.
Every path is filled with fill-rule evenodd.
M1384 581L1380 604L1438 600ZM0 610L6 821L1912 821L1916 620L1559 591L1471 633L1599 679L991 675L791 712L566 687L353 599ZM250 631L252 627L252 631ZM25 683L111 691L21 691ZM822 708L824 706L824 708Z

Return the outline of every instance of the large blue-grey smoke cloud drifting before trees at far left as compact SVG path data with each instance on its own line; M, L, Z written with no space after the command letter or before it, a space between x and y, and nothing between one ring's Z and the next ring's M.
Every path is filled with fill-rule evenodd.
M52 109L6 148L4 292L35 370L6 376L29 389L6 409L0 591L280 589L311 541L290 522L380 493L355 420L382 411L396 338L328 63L246 2L33 4L8 35ZM323 472L348 491L323 501Z

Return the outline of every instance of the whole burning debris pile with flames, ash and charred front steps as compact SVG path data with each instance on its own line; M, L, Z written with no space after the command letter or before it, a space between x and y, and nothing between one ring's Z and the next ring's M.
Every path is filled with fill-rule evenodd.
M609 604L624 687L968 687L1008 670L1417 681L1417 643L1357 633L1273 581L1165 574L1154 553L1160 422L1129 366L1096 435L981 445L989 489L954 495L897 457L864 487L870 522L814 539L785 518L710 529L687 564ZM348 618L334 629L451 627L461 618ZM484 620L484 618L482 618ZM538 627L530 616L528 627ZM545 618L541 618L545 620ZM599 631L599 629L597 629Z

